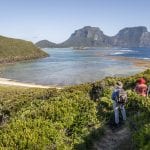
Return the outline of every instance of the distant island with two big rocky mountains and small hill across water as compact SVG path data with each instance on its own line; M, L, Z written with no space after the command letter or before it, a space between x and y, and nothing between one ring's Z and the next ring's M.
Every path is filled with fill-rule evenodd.
M35 43L40 48L52 47L150 47L150 32L144 26L127 27L120 30L115 36L107 36L98 27L85 26L76 30L63 43L53 43L42 40Z

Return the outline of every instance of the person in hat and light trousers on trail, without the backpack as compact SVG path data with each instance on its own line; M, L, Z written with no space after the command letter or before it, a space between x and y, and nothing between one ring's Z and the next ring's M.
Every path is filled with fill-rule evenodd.
M126 120L126 111L125 111L124 103L119 103L116 99L119 91L124 91L123 84L120 81L118 81L116 83L115 89L112 93L113 109L114 109L114 114L115 114L115 125L116 125L116 127L119 126L119 108L121 109L123 121Z

